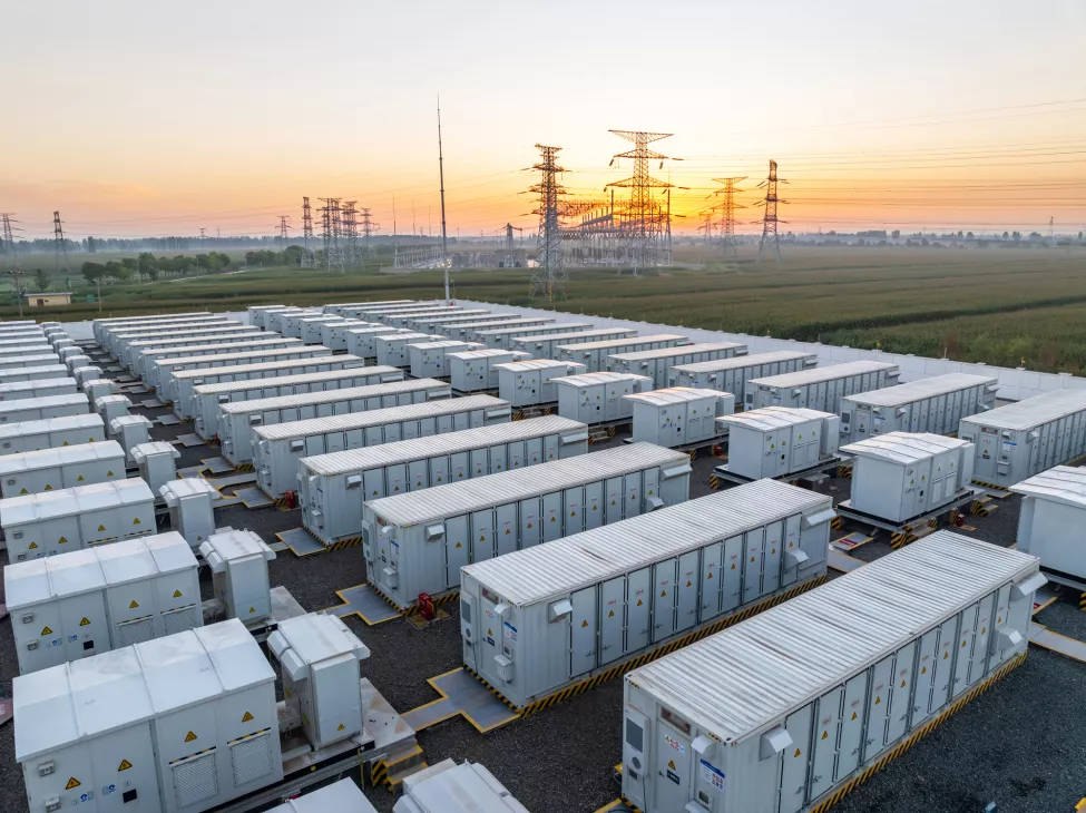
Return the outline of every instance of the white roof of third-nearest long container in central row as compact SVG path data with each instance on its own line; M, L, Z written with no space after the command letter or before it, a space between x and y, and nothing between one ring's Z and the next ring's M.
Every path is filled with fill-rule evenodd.
M688 468L689 457L686 452L652 443L630 443L591 454L529 466L527 469L513 469L422 491L368 500L363 505L390 525L413 526L652 466Z

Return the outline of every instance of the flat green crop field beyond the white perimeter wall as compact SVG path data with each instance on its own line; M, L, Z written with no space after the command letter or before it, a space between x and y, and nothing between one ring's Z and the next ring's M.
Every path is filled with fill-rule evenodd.
M102 262L102 255L94 255ZM695 249L678 253L696 262ZM1086 370L1086 249L952 249L791 246L785 261L752 255L664 275L616 276L573 270L560 310L773 335L857 347L881 346L961 361L1073 372ZM79 259L78 262L82 262ZM27 267L33 268L31 263ZM547 306L528 298L530 272L457 271L454 296ZM74 280L82 298L89 287ZM101 315L246 305L323 304L368 298L438 298L437 271L327 275L256 270L233 275L102 287ZM0 310L10 319L13 307ZM50 319L98 315L97 304L42 312ZM37 313L35 315L38 315Z

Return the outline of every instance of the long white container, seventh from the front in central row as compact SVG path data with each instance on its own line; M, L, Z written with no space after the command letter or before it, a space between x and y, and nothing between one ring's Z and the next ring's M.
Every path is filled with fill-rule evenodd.
M339 357L361 361L361 359L350 355ZM322 373L200 384L193 388L196 433L207 440L218 433L219 406L224 403L256 401L281 395L301 395L306 392L346 390L354 386L387 384L393 381L403 381L402 370L387 366L350 366L343 370L326 370Z

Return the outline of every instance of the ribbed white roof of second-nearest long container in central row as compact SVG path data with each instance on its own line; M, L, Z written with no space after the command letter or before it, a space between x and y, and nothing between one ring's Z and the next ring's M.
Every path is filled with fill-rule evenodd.
M825 494L777 480L757 480L468 565L463 570L496 591L502 600L522 607L646 567L668 556L697 550L766 522L832 509L833 500Z

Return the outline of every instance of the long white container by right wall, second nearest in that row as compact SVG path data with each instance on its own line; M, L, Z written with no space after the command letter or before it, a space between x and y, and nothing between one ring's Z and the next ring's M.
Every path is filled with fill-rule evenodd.
M962 418L996 405L991 375L949 373L841 399L841 438L863 440L884 432L951 434Z

